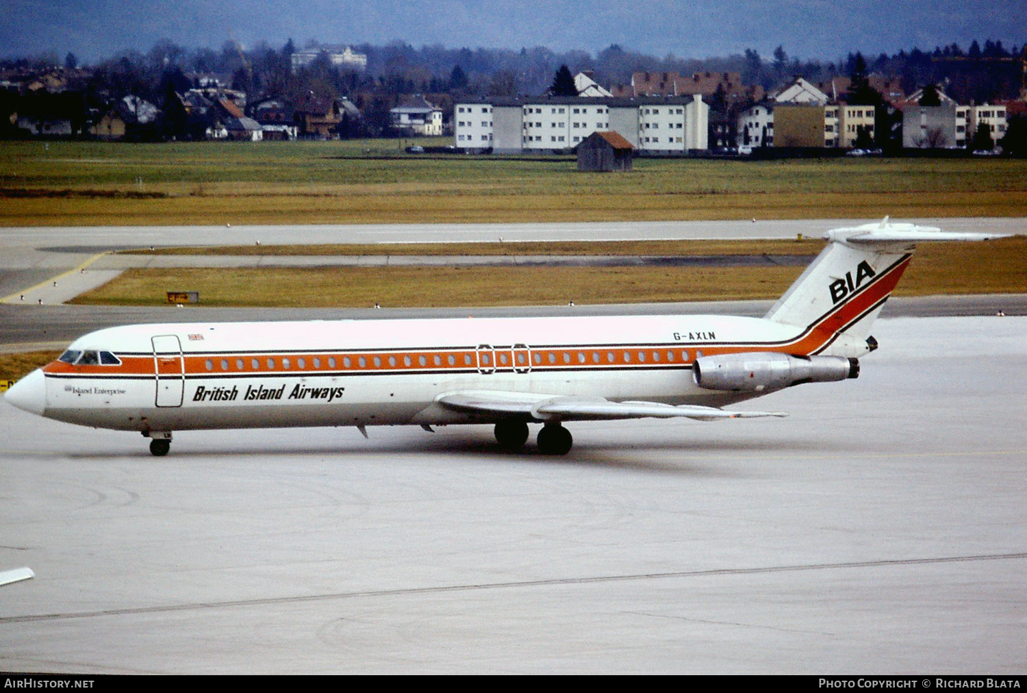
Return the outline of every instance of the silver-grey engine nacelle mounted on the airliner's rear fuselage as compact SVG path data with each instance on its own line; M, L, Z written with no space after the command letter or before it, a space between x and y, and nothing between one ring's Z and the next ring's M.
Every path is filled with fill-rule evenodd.
M802 383L829 383L860 375L844 356L791 356L772 351L702 356L692 365L695 384L708 390L769 392Z

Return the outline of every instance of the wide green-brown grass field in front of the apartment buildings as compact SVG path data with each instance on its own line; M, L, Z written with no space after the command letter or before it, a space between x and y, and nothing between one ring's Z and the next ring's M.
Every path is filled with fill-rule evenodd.
M400 141L0 143L0 226L1027 216L1027 161L407 155Z

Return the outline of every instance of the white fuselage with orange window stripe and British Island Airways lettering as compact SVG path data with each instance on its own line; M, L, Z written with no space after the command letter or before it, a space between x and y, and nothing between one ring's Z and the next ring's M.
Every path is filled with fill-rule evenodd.
M45 367L42 414L146 432L494 421L436 403L467 390L720 407L756 395L697 387L696 357L825 339L711 315L138 324L70 346L118 364Z

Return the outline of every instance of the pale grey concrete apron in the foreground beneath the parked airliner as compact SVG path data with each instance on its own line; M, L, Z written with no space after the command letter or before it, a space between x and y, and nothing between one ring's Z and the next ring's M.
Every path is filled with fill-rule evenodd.
M575 424L560 459L485 427L155 459L0 405L0 569L37 575L0 669L1022 673L1027 317L874 335L759 400L788 419Z

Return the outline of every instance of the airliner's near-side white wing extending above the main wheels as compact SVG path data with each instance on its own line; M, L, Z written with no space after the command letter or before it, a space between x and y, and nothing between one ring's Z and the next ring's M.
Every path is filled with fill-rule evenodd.
M674 419L698 421L784 417L783 412L728 412L698 405L663 405L657 401L610 401L602 397L574 397L530 392L474 390L446 392L435 402L457 412L499 418L521 417L534 421L611 421L614 419Z

